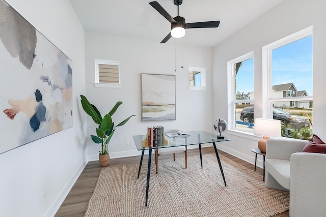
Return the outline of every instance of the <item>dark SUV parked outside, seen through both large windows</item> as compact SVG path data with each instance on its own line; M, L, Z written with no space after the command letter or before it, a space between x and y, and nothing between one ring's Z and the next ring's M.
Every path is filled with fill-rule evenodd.
M243 122L254 122L254 107L244 107L240 112L240 119ZM282 127L289 123L291 128L295 130L300 130L304 127L310 128L310 121L307 117L293 115L280 108L273 108L273 119L280 120Z

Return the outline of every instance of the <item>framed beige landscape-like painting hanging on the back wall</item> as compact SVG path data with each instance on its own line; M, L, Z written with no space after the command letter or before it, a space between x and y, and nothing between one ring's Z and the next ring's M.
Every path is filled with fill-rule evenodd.
M142 121L175 120L175 75L141 74Z

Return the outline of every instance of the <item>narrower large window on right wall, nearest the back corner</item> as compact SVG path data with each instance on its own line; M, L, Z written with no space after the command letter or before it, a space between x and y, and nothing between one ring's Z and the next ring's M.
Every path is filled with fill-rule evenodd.
M253 52L228 62L228 79L231 91L232 113L229 114L229 128L253 131L254 122L254 58ZM230 110L229 110L230 111ZM231 125L230 125L231 123Z

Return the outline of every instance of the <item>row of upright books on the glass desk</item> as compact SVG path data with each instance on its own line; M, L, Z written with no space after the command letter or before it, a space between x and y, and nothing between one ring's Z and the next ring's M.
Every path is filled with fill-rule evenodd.
M143 147L159 147L168 145L168 140L164 137L164 127L147 127L146 140L142 142Z

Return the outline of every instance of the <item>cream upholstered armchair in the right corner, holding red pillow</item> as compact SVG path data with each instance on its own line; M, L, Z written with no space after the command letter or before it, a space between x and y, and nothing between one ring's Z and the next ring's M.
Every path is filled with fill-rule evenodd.
M326 154L302 152L306 140L268 139L267 188L290 191L290 216L326 216Z

